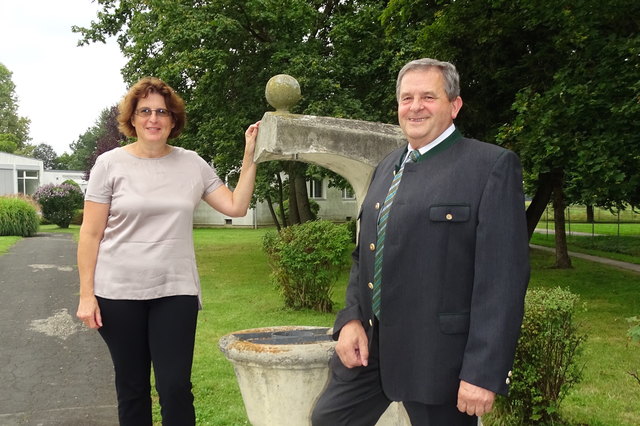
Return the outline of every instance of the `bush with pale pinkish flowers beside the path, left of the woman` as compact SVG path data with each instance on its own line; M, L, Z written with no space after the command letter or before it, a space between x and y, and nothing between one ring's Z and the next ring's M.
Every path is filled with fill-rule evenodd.
M68 228L75 211L82 208L84 198L77 185L43 185L33 194L42 207L42 216L60 228Z

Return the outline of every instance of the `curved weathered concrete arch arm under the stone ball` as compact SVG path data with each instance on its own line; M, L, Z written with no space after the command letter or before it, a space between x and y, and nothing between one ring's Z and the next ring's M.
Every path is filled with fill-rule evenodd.
M407 142L399 126L312 115L267 112L256 141L255 161L313 163L343 176L358 206L373 169L389 152Z

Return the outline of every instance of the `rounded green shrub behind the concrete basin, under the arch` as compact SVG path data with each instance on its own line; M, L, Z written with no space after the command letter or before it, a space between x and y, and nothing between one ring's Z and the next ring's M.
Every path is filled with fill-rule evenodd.
M265 234L272 279L285 306L331 312L331 293L348 262L349 231L324 220L306 222Z

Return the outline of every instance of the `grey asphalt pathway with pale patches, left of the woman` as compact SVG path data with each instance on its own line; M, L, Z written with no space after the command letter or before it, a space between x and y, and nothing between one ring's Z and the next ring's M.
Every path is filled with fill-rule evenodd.
M0 425L117 425L113 367L75 318L76 244L24 238L0 256Z

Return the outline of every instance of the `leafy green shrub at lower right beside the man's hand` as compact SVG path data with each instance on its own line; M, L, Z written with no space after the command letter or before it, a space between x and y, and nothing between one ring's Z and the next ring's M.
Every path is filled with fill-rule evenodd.
M557 424L559 407L582 377L578 357L586 336L573 314L579 297L567 290L527 292L509 397L498 397L488 425ZM484 419L483 419L484 420Z

